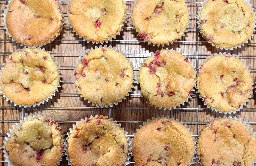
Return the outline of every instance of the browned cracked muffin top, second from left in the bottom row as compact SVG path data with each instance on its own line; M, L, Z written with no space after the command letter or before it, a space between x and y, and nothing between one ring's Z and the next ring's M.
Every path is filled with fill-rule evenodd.
M68 155L74 166L121 166L128 142L116 123L100 115L76 125L68 138Z

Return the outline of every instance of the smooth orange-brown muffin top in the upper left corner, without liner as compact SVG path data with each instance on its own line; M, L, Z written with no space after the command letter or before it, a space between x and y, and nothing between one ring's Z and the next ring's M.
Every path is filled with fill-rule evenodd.
M62 13L56 0L13 0L7 11L6 26L17 42L35 46L60 35Z

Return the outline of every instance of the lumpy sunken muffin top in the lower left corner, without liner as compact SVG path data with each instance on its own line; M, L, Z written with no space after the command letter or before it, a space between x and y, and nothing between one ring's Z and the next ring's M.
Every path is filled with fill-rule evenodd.
M17 125L6 143L9 159L19 166L55 166L62 156L64 140L57 123L42 117Z

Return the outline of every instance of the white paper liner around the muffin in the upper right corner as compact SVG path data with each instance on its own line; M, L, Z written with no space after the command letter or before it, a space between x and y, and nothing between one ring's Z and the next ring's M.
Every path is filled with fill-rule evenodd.
M197 12L197 17L196 17L196 19L197 19L197 21L196 21L196 23L197 23L197 28L199 29L199 32L200 32L200 34L202 35L202 37L210 44L210 45L212 45L213 47L216 47L217 49L221 49L221 50L233 50L233 49L237 49L237 48L241 48L241 45L242 46L244 46L245 45L245 43L248 43L248 40L251 40L252 39L252 36L254 35L253 33L256 31L255 30L255 28L256 28L256 20L255 20L255 14L256 14L256 12L254 12L254 8L252 7L252 4L250 4L250 0L244 0L245 2L246 2L246 4L248 4L249 6L250 6L250 8L251 8L251 10L252 10L252 12L253 12L253 16L254 16L254 24L253 24L253 26L254 26L254 28L253 28L253 31L252 31L252 34L251 34L251 36L244 42L244 43L241 43L240 45L237 45L237 46L234 46L234 47L229 47L229 48L226 48L226 47L221 47L221 46L217 46L216 44L214 44L214 43L212 43L212 41L211 41L211 39L208 39L207 38L207 36L206 35L204 35L204 33L202 32L202 28L201 28L201 26L200 26L200 14L201 14L201 11L202 11L202 8L204 7L204 4L207 2L208 0L204 0L204 3L202 4L202 7L199 7L199 10L198 10L198 12Z

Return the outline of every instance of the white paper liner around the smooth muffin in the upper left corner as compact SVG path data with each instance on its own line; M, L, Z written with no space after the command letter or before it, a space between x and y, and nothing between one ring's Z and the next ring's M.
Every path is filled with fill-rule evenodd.
M9 5L10 5L10 3L12 2L13 0L8 0L8 4L7 5L5 5L5 10L4 10L4 14L3 14L3 25L4 25L4 29L6 30L5 31L5 33L6 34L8 34L9 35L9 37L11 37L12 38L12 42L16 42L16 43L20 43L20 42L18 42L18 41L16 41L15 39L13 39L13 37L12 37L12 35L10 34L10 32L9 32L9 30L8 30L8 28L7 28L7 25L6 25L6 14L8 13L8 10L9 10ZM62 14L62 20L61 20L61 25L60 25L60 29L59 29L59 33L61 33L61 31L62 31L62 28L63 28L63 25L64 25L64 20L65 20L65 18L64 18L64 10L63 10L63 7L62 7L62 5L61 4L59 4L58 3L58 5L60 6L60 9L61 9L61 14ZM37 45L34 45L34 46L26 46L26 45L24 45L24 44L22 44L22 43L20 43L20 46L22 47L23 45L24 46L26 46L26 47L28 47L28 48L36 48L36 47L42 47L42 46L44 46L44 45L46 45L46 44L49 44L49 43L51 43L53 40L55 40L57 37L59 37L59 36L53 36L52 37L52 39L50 39L48 42L45 42L45 43L42 43L42 44L37 44Z

